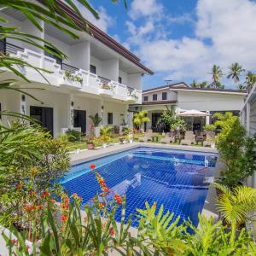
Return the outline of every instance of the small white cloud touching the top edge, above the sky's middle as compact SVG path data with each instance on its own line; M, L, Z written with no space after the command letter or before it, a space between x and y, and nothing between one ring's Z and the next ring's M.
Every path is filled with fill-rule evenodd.
M163 6L156 0L133 0L129 15L132 20L142 17L154 16L159 17L163 11Z

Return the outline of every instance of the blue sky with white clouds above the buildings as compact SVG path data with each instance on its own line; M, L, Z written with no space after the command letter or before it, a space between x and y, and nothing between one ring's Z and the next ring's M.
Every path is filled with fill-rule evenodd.
M84 17L130 49L154 71L143 90L193 80L211 82L213 64L228 73L238 62L256 71L256 0L90 0L100 20ZM241 77L241 83L244 77ZM222 79L225 88L237 84Z

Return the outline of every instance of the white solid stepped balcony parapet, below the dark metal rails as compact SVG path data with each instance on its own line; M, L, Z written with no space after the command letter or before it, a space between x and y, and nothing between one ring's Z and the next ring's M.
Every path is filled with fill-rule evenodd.
M42 83L49 82L49 84L55 86L70 86L84 92L90 92L98 95L102 94L102 78L94 73L90 73L83 69L77 70L75 67L71 72L67 70L65 71L61 69L61 65L56 63L54 58L46 56L44 53L35 52L31 49L23 49L22 51L17 50L15 53L11 53L11 55L22 58L33 67L44 68L50 72L41 72L45 79L47 79L46 81L44 77L36 72L32 67L19 67L20 72L26 74L27 78L32 81L36 80ZM67 77L67 73L69 73L69 77ZM77 80L77 77L80 78L79 81ZM109 84L110 86L110 90L112 92L109 93L109 96L122 101L130 101L131 96L134 96L134 102L141 102L141 90L132 89L125 84L119 84L113 80L109 80L108 83L104 84Z

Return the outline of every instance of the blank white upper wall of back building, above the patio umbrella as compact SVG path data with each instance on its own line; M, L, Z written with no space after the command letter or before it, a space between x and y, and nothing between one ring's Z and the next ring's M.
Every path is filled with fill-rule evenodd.
M177 91L178 108L200 111L241 110L243 95L199 91Z

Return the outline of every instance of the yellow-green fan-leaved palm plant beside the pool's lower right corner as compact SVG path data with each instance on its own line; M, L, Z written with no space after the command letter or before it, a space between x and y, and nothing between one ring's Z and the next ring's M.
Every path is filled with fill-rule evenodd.
M256 189L246 186L230 189L219 183L214 183L214 187L221 191L217 206L224 221L236 228L245 224L249 213L256 210Z

